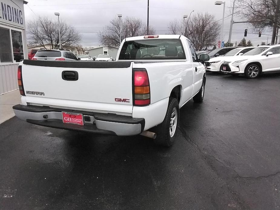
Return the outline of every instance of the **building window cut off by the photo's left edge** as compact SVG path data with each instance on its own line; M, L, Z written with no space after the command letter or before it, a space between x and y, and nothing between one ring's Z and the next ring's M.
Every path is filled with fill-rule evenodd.
M0 62L13 62L10 30L0 28Z

